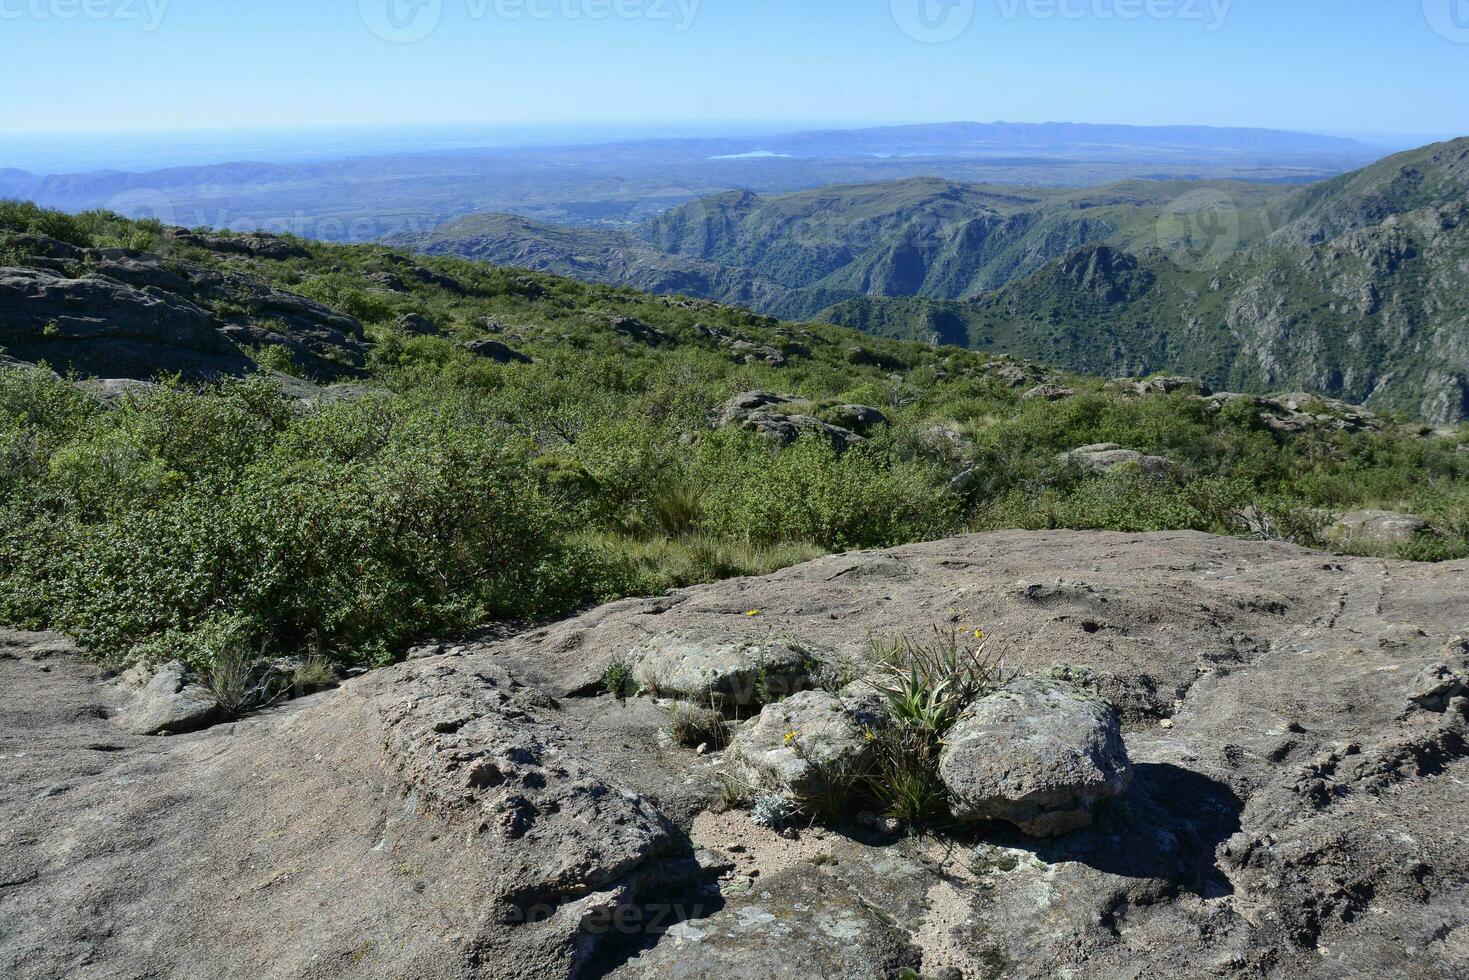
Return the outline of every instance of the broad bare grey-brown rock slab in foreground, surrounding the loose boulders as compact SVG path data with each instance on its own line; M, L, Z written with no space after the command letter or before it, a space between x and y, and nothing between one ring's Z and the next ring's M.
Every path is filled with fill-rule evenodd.
M1131 783L1089 827L782 836L724 811L727 752L660 738L667 705L596 693L670 630L859 669L936 624L1115 705ZM1005 532L156 738L71 644L0 630L0 976L1463 977L1466 633L1469 563Z

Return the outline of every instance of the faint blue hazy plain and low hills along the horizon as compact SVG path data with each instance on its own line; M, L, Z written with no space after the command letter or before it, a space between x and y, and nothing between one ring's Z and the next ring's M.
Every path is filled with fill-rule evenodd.
M472 137L466 134L467 141ZM187 226L370 241L485 212L623 228L730 190L784 192L912 176L1052 187L1159 176L1303 182L1379 156L1351 140L1294 132L1074 123L943 123L461 150L444 150L444 141L438 134L411 153L347 156L338 147L348 144L335 135L323 137L314 160L259 162L241 151L242 162L145 173L38 175L7 170L0 159L0 197L72 212L106 207ZM261 154L272 148L261 143Z

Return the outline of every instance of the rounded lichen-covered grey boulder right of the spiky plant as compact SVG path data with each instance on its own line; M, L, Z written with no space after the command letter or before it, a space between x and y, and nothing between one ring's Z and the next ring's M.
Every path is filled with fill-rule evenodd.
M1091 824L1133 782L1116 711L1061 680L1018 680L970 705L939 774L953 817L1003 820L1036 837Z

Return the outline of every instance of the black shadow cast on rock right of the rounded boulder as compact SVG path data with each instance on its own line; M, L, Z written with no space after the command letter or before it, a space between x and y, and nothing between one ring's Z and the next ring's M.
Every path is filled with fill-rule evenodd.
M1215 851L1240 830L1243 810L1243 801L1225 783L1180 765L1150 763L1136 767L1128 792L1100 808L1087 830L1052 840L1005 830L989 840L1031 851L1046 864L1075 861L1215 898L1234 892Z

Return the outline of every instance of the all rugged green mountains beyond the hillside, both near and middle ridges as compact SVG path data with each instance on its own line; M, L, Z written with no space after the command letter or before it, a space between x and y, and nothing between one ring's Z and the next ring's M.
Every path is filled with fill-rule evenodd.
M1469 417L1466 160L1457 140L1306 188L921 178L740 191L623 229L482 215L394 244L1074 370L1178 370L1454 422Z

